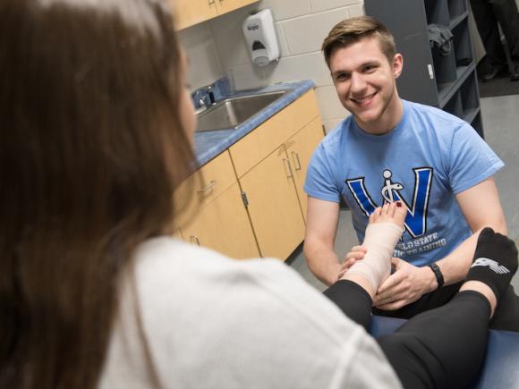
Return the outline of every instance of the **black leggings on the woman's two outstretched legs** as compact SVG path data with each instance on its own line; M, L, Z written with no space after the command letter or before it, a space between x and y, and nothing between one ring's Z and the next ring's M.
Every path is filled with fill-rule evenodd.
M338 281L324 294L368 331L372 300L361 286ZM481 368L489 315L489 301L480 293L459 292L376 341L404 388L464 388Z

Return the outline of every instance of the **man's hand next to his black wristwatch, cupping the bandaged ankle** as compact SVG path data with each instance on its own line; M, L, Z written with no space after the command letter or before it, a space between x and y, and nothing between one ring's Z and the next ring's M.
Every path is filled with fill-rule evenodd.
M393 258L391 262L395 266L395 273L379 286L373 300L374 307L400 309L438 287L436 277L428 266L413 266L400 258Z

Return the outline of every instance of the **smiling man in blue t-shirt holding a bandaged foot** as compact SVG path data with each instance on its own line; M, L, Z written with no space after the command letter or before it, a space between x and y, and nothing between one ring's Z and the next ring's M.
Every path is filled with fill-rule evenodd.
M401 201L407 216L395 272L380 285L374 306L379 314L410 317L441 305L467 274L479 231L507 233L492 178L504 164L468 123L398 96L403 57L379 21L338 23L323 52L352 115L321 141L308 168L308 265L329 285L362 260L362 246L342 264L334 252L341 198L359 241L376 207Z

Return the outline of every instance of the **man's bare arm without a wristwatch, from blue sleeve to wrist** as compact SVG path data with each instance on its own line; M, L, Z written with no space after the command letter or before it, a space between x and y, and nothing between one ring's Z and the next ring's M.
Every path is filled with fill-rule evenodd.
M328 286L337 281L341 270L334 251L339 204L308 197L303 251L311 272Z

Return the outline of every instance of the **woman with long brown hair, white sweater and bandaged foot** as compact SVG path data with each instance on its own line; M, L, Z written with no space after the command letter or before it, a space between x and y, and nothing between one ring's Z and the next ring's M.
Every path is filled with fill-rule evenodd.
M415 335L378 346L279 261L169 236L194 161L184 72L165 1L0 2L0 387L414 385L396 361L416 358L402 351ZM395 205L378 212L373 224L402 227ZM513 243L487 235L513 275ZM327 292L360 324L389 251L372 259L387 264L380 275L366 278L368 264ZM472 315L453 320L469 317L474 335L449 342L451 359L481 363L506 277L473 275L459 293L451 310ZM430 342L417 353L437 352ZM446 370L453 385L473 374Z

